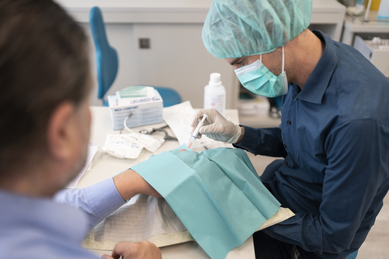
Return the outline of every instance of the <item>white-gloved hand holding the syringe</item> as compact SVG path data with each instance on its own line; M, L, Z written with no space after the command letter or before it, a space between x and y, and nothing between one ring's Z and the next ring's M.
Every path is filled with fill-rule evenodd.
M197 120L203 117L203 114L208 116L204 121L203 127L200 128L200 133L197 138L201 138L201 134L206 134L205 136L217 140L223 141L226 143L236 143L242 133L239 125L229 122L224 118L216 109L203 109L198 110L193 114L191 118L192 132L196 129Z

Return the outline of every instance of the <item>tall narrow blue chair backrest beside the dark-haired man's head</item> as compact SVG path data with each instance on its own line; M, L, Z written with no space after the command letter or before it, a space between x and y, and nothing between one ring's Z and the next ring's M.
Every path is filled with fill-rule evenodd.
M116 78L119 62L116 50L108 43L100 8L96 6L92 7L89 21L93 42L95 42L96 47L98 98L103 99L105 93Z

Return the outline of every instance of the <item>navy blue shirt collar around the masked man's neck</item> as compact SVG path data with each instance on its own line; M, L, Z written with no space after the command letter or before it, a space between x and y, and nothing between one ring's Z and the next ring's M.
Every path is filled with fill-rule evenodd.
M314 71L312 71L303 89L301 89L298 96L296 96L296 99L311 103L321 103L324 92L326 92L328 87L329 80L334 72L337 57L333 40L321 31L313 30L312 32L321 41L324 41L326 46Z

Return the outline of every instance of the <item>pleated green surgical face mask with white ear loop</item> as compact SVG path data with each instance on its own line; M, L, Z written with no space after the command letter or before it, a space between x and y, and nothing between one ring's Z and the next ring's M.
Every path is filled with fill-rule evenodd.
M281 96L288 92L284 61L284 47L282 47L282 73L279 76L275 76L262 63L262 54L260 59L252 64L236 69L235 73L240 83L254 94L265 97Z

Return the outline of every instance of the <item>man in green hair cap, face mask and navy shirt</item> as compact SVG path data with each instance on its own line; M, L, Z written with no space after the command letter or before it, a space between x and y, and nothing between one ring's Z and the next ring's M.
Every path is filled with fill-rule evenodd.
M191 124L205 113L201 134L284 158L261 179L296 216L254 234L257 258L345 258L389 189L389 81L354 48L308 30L311 12L310 0L214 0L203 27L207 50L245 88L283 96L279 127L235 125L214 109Z

